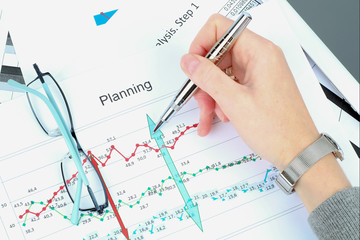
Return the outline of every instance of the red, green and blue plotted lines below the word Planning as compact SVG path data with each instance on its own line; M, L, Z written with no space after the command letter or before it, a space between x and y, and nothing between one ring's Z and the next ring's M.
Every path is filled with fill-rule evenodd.
M137 144L135 144L134 150L128 154L124 154L117 147L115 147L115 145L111 145L110 151L108 152L105 160L99 159L91 151L88 151L88 156L91 159L93 159L94 161L96 161L96 163L98 163L99 166L104 168L109 164L112 157L115 156L114 154L116 154L117 156L120 156L121 159L123 159L125 162L129 162L132 158L134 158L136 156L136 153L138 152L138 150L140 148L151 149L152 151L154 151L156 153L160 152L161 148L174 150L176 148L175 146L177 145L178 141L189 130L194 129L197 126L198 126L197 123L189 125L189 126L183 126L184 129L182 131L177 132L178 135L176 137L174 137L174 141L169 145L165 145L165 143L164 143L161 146L158 145L158 147L154 147L154 146L151 146L149 143L144 143L144 144L137 143ZM227 164L212 164L212 165L203 166L196 172L182 171L179 173L179 176L180 176L181 181L188 182L191 179L197 178L198 176L204 176L204 174L209 174L211 172L224 171L225 169L231 169L233 167L243 165L246 163L256 162L258 160L261 160L261 158L259 156L256 156L255 154L249 154L247 156L243 156L242 158L236 159ZM87 158L83 159L83 164L85 164L86 161L87 161ZM209 199L211 199L211 201L214 201L214 202L215 201L226 202L226 201L229 201L229 200L239 197L241 194L249 194L249 192L254 192L255 190L257 192L269 191L274 188L273 180L275 179L274 177L270 176L270 173L276 172L276 171L277 171L276 169L267 169L266 172L262 173L263 180L260 182L241 182L241 184L238 184L237 186L235 185L232 187L227 187L226 189L223 189L223 190L218 189L216 191L212 191L212 192L205 193L205 194L195 194L195 195L192 195L191 198L194 200L196 199L196 201L200 201L201 199L203 201L204 199L209 198ZM72 179L76 178L76 176L77 176L77 173L74 173L72 175L72 178L68 179L66 181L67 184L69 184ZM270 177L271 177L271 180L267 181ZM155 186L159 186L159 187L154 187L154 186L146 187L144 191L136 194L136 196L138 196L138 198L135 198L135 199L132 199L129 201L126 201L125 199L122 199L122 198L116 199L116 205L115 205L116 209L115 210L119 211L119 209L123 206L126 206L128 209L134 209L136 206L140 207L143 204L143 201L145 199L152 198L154 196L163 196L164 193L169 191L166 189L167 186L171 185L170 182L174 182L174 181L175 180L172 176L164 177L158 184L155 185ZM45 212L46 212L46 216L53 216L52 215L52 212L53 212L54 214L61 216L61 218L64 219L65 221L69 222L70 217L68 215L64 214L61 210L58 210L55 207L50 206L50 204L52 203L52 200L61 191L65 191L64 185L61 185L58 188L58 190L53 193L53 196L48 201L45 201L45 202L31 201L30 205L25 210L25 212L19 216L20 219L23 219L22 226L23 227L27 226L28 221L30 220L30 218L29 218L30 215L35 215L36 217L39 217L41 214L45 214ZM36 206L40 207L40 211L33 210L34 207L36 207ZM49 209L50 212L47 211L47 209ZM156 215L152 216L151 220L147 220L147 222L140 223L135 229L133 229L131 232L131 234L132 234L131 236L132 237L143 236L143 234L145 234L144 231L147 234L152 235L155 233L155 229L159 228L159 226L157 224L164 224L165 222L170 221L170 220L177 219L179 222L183 222L184 220L189 220L190 217L187 214L186 214L186 218L184 218L185 217L184 212L183 212L184 209L185 209L184 206L178 206L177 210L171 214L169 213L169 211L167 211L167 214L165 214L166 216L165 215L162 217L156 216ZM105 221L105 219L110 219L110 218L113 218L113 216L116 216L116 213L117 212L111 211L109 209L106 209L103 215L97 215L97 214L94 214L91 212L90 213L81 213L80 218L78 220L78 224L80 224L82 221L84 221L87 218L97 219L99 222L103 222L103 221ZM85 220L85 221L87 221L87 220ZM149 225L149 222L151 222L151 225ZM122 232L122 231L120 231L120 232ZM117 233L119 233L119 232L117 232ZM109 236L111 236L111 234L109 234ZM129 237L129 235L126 235L126 236L127 236L127 238Z

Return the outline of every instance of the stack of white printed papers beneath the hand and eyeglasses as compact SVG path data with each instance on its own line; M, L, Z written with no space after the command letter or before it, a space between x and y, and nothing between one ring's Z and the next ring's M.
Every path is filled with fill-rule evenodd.
M86 57L83 57L84 62L79 63L68 57L67 63L79 63L76 69L81 71L66 64L56 71L56 61L47 62L46 54L39 54L44 59L35 59L34 49L26 50L33 58L22 59L23 64L41 62L43 71L55 71L56 78L67 78L60 85L70 104L79 141L101 163L100 171L130 239L258 239L264 236L270 239L288 239L289 236L292 239L316 239L307 224L308 213L298 196L287 196L277 188L274 183L277 169L254 154L231 124L215 120L209 136L197 136L199 111L196 102L190 101L162 131L163 141L191 201L198 206L201 230L187 214L187 203L184 203L164 158L158 153L156 142L149 134L147 116L156 121L186 79L179 61L199 28L214 12L231 17L238 11L236 6L240 8L245 4L246 7L253 2L218 1L208 4L205 0L196 3L182 1L174 7L161 1L164 5L159 3L156 11L148 11L155 7L150 3L146 5L145 1L140 9L125 4L128 8L125 5L114 7L114 3L111 8L97 12L90 5L85 12L93 12L87 15L93 21L92 25L82 18L83 13L62 9L66 16L64 23L75 21L76 26L79 24L86 30L82 36L76 32L79 27L74 27L72 34L75 35L66 36L68 42L89 40L84 43L84 48L78 49L77 56L86 53L90 60L85 61ZM51 8L48 6L46 9ZM116 12L111 12L115 9ZM130 9L136 18L130 18ZM110 12L112 17L101 18L101 12L104 15ZM60 16L56 15L59 13L51 13L59 19ZM341 166L350 181L358 184L357 157L343 137L281 8L276 1L271 1L250 10L250 13L253 20L249 29L282 48L318 130L328 132L343 148L346 159ZM52 17L50 12L34 15L34 21L39 22ZM116 17L124 17L126 21L116 20ZM100 22L96 22L97 18ZM130 27L129 19L136 27ZM182 27L177 20L183 22ZM141 25L143 28L138 27L139 22L144 24ZM34 32L49 33L46 38L50 40L55 30L60 29L61 22L57 24L49 26L49 32L36 29ZM91 32L89 29L99 27L105 28L93 32L92 36L87 35ZM171 38L166 37L166 34L171 35L171 29L177 33ZM110 51L104 43L115 41L110 37L112 31L127 33L125 38L116 38L127 45ZM103 39L101 34L104 34ZM164 38L167 43L162 40ZM161 42L162 45L156 46ZM66 49L61 46L63 43L54 39L42 46L43 50L37 50L53 49L51 55L59 60L66 55L63 53ZM86 50L96 43L99 45L92 52ZM19 46L18 52L22 51L20 49ZM102 60L93 56L102 54L104 62L98 64ZM114 56L106 58L112 54ZM98 67L88 69L94 65ZM30 69L24 74L28 79L34 77ZM110 100L112 96L139 85L144 88L136 94L128 93L116 101ZM62 188L64 183L60 173L61 159L68 150L63 138L50 138L43 133L26 98L2 105L0 115L5 116L0 119L3 136L0 139L0 203L5 204L0 208L1 236L9 239L125 239L110 207L103 215L82 213L78 226L70 223L72 202Z

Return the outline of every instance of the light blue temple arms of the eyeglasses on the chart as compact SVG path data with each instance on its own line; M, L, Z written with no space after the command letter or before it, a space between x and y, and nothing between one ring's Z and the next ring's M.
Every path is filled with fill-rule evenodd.
M74 140L70 137L70 132L68 131L68 129L65 128L65 121L62 118L61 114L58 114L58 111L56 111L55 107L53 106L53 104L51 104L51 102L49 101L49 99L47 99L43 94L41 94L40 92L31 89L23 84L20 84L12 79L10 79L8 81L8 84L12 87L18 88L22 91L25 92L29 92L31 94L34 94L35 96L39 97L49 108L49 110L51 111L52 115L55 118L55 121L57 122L60 131L65 139L66 145L69 148L70 154L72 156L74 156L74 163L76 165L76 168L78 170L78 173L80 175L80 178L78 179L79 181L79 186L76 190L76 196L75 196L75 201L74 201L74 207L73 207L73 212L72 212L72 216L71 216L71 222L73 224L77 224L77 220L78 216L79 216L79 206L80 206L80 197L81 197L81 186L82 186L82 182L84 182L84 184L86 186L89 185L89 181L85 175L84 169L81 166L81 160L80 160L80 155L79 152L76 151L76 147L75 147L75 143ZM46 85L47 86L47 85ZM47 88L47 90L49 91L49 88ZM45 89L46 91L46 89ZM76 218L76 219L75 219Z

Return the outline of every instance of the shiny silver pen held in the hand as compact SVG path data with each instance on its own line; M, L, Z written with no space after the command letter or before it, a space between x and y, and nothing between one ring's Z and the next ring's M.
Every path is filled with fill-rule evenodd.
M240 36L240 33L246 28L251 21L251 15L248 13L242 13L226 31L226 33L220 38L219 41L211 48L206 54L206 58L210 59L215 65L218 65L223 59L224 55L234 45L236 39ZM180 91L176 94L175 98L171 101L169 107L166 109L158 124L154 128L155 133L160 127L178 112L182 106L192 97L197 90L197 86L188 79L182 86Z

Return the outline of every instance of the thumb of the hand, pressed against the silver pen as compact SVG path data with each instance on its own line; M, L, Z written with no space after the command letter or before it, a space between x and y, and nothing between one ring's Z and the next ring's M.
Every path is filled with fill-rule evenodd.
M235 94L239 94L239 84L207 58L186 54L181 58L181 68L191 81L207 92L224 110L233 103Z

